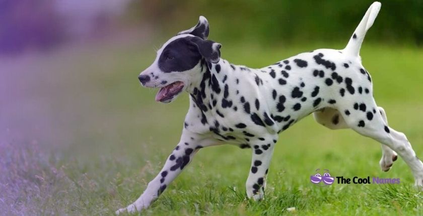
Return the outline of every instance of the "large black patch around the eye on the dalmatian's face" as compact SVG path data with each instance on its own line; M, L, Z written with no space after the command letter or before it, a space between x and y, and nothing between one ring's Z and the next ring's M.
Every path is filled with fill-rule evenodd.
M202 57L190 38L178 38L163 49L158 61L160 70L165 73L182 72L198 64Z

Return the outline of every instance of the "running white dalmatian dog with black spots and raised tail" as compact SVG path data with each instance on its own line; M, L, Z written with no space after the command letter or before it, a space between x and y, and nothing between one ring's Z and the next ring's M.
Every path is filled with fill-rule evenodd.
M182 136L144 193L116 213L149 207L199 149L221 144L252 149L246 194L262 199L278 134L311 113L329 129L350 128L380 142L383 171L399 154L415 185L422 186L423 163L405 135L388 125L359 55L380 7L379 2L370 6L344 49L318 49L259 69L222 59L221 44L207 40L209 24L202 16L196 26L169 39L138 79L143 86L160 88L160 102L189 93Z

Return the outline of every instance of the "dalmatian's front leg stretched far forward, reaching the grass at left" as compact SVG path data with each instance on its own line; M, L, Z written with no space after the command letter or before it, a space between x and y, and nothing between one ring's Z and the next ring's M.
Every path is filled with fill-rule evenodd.
M194 154L200 148L210 146L211 144L213 144L212 139L203 138L198 134L184 130L178 145L167 158L160 173L149 182L144 193L126 208L117 210L116 214L126 211L133 213L150 206L150 204L159 197L159 195L179 175L179 173L181 173L186 165L188 165Z

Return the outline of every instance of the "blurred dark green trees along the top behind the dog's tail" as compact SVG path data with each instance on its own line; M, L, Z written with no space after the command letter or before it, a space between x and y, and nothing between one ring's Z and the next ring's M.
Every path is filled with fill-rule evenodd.
M199 15L210 21L214 36L274 41L344 40L353 33L374 1L181 0L133 1L133 18L177 32ZM423 43L423 1L381 1L382 9L366 40ZM213 26L219 26L214 29ZM175 29L178 28L178 29Z

